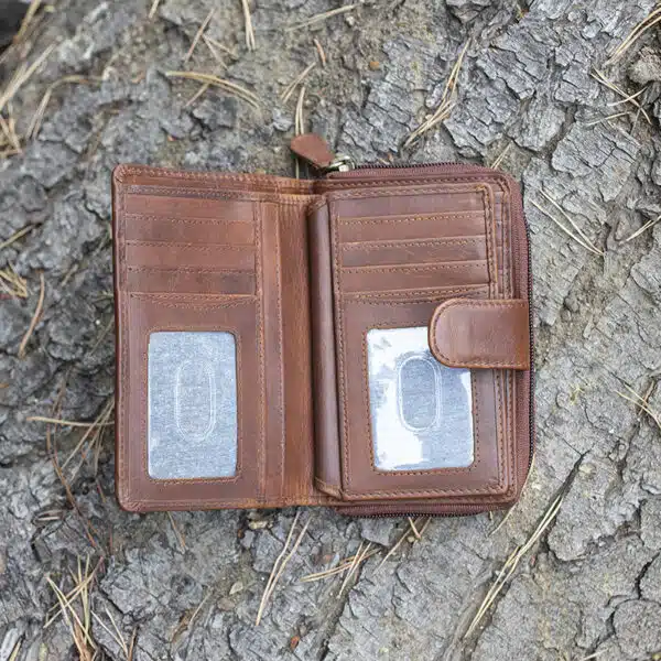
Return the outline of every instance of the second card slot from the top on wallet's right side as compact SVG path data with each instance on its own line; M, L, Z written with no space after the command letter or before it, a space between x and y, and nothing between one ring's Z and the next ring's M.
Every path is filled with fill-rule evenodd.
M485 234L484 209L338 218L339 241L415 240Z

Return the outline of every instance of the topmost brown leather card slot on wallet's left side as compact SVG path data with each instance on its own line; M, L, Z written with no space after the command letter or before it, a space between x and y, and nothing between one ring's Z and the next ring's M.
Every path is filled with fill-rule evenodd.
M123 212L167 218L195 217L216 221L253 223L252 202L248 199L128 194L123 201Z

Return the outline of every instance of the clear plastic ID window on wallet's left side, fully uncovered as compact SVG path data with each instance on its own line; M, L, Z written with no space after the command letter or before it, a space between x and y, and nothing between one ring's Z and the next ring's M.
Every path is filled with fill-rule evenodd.
M152 333L148 393L152 478L236 474L237 353L231 333Z

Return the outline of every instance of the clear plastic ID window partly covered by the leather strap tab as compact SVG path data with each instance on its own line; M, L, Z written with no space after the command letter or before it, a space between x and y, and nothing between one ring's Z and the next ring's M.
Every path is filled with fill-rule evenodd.
M473 463L470 370L431 354L427 328L367 333L369 408L379 470L458 468Z

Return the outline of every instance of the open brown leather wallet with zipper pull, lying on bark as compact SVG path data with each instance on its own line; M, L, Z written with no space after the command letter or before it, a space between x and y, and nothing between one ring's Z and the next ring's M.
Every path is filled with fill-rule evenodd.
M319 176L115 170L120 505L511 506L534 443L517 184L292 149Z

